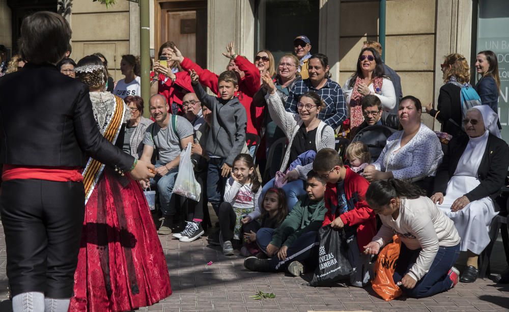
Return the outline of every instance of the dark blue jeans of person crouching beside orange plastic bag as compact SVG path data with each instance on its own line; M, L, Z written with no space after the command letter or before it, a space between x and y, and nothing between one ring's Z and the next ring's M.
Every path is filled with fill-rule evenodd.
M400 258L392 275L394 283L401 281L403 276L415 264L420 251L421 249L410 250L405 244L401 244ZM412 298L430 297L449 290L453 282L447 276L447 273L456 263L459 255L460 244L451 247L439 247L428 273L417 281L413 289L406 289L404 287L401 287L401 289L408 297Z

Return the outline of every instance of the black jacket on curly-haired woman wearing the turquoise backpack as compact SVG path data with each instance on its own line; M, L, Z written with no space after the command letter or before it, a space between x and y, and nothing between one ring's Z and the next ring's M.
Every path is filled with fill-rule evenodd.
M442 124L442 132L452 136L464 134L461 129L461 88L454 83L445 83L438 94L437 109L432 109L430 115L435 117L437 112L438 121ZM451 122L451 120L453 122ZM455 124L456 123L456 124Z

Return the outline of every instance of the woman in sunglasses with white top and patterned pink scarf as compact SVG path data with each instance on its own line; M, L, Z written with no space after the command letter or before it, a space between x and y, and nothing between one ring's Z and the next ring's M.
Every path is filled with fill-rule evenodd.
M364 121L361 100L373 94L382 102L382 108L390 111L396 105L394 85L385 76L382 59L374 48L363 48L357 62L357 70L343 87L349 105L350 129L355 129Z

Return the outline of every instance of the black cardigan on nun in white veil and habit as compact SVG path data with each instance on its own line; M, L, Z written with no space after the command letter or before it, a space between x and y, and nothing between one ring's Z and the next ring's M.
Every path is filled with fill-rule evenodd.
M435 176L435 185L433 193L441 192L445 195L447 183L454 176L461 155L468 144L468 136L461 135L450 140L448 151L442 159L442 164L438 167ZM493 200L500 194L500 189L504 186L505 176L507 175L507 166L509 165L509 146L501 138L488 135L488 143L483 155L483 160L477 169L477 179L480 184L466 193L470 202L480 200L490 196Z

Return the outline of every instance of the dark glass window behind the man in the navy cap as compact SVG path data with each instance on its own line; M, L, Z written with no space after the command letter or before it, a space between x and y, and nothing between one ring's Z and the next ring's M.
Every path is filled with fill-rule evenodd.
M304 35L311 53L318 53L319 0L261 0L258 8L258 50L267 49L279 61L293 53L293 39Z

